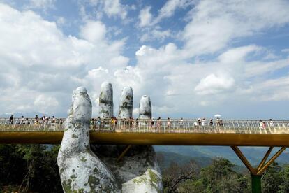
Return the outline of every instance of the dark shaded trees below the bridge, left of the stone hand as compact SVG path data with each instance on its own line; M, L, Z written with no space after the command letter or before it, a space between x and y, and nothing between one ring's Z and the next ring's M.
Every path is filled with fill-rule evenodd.
M62 192L58 150L59 145L0 145L0 187L13 185L18 192Z

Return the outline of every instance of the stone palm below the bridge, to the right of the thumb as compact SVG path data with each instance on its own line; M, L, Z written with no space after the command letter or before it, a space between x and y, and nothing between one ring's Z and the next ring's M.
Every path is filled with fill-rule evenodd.
M114 173L122 192L163 192L161 172L156 153L151 145L133 145L117 163L117 157L126 145L92 145Z

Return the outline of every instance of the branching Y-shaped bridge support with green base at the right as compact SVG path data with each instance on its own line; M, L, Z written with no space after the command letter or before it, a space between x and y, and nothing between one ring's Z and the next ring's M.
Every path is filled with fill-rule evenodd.
M252 192L253 193L261 193L262 192L262 187L261 187L262 173L264 173L264 171L270 166L270 164L272 164L272 162L274 162L274 160L277 157L279 157L279 155L281 155L281 153L286 149L286 147L280 148L280 150L278 150L278 152L276 152L275 155L273 155L271 157L271 159L269 159L269 161L265 164L270 153L273 150L273 147L270 147L269 150L267 150L265 156L261 160L258 167L253 168L253 166L251 166L250 162L246 159L246 157L243 155L243 153L241 152L241 150L239 150L239 148L237 146L231 146L231 148L232 148L232 150L234 150L236 155L239 157L239 159L241 159L241 161L244 163L246 168L249 169L249 171L251 173Z

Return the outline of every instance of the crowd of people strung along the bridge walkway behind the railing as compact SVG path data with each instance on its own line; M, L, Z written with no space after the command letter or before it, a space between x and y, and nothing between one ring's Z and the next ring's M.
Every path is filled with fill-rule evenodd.
M44 124L44 125L52 125L52 124L63 124L63 119L57 119L54 116L45 116L38 117L35 115L33 119L29 119L28 117L21 116L21 118L15 119L13 115L10 116L9 119L10 124ZM272 119L267 121L267 124L270 128L274 127L274 122ZM205 129L205 127L223 127L223 120L220 117L217 117L216 120L210 119L206 120L205 117L198 118L198 120L184 120L182 117L180 120L171 120L168 117L166 120L162 120L161 117L158 117L156 120L152 117L149 120L139 120L138 118L133 119L133 117L119 118L110 117L110 119L101 119L101 117L92 118L90 121L91 129L100 129L100 128L109 128L110 130L115 129L132 129L137 128L139 126L147 126L150 129L160 130L160 129L171 129L173 128L194 128L194 129ZM267 125L265 121L260 120L258 124L259 129L266 129Z

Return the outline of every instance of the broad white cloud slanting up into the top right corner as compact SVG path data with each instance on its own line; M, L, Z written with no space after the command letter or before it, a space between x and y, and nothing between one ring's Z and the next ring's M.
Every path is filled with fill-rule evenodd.
M200 1L180 37L191 56L214 53L235 38L288 23L288 9L289 2L282 0Z

